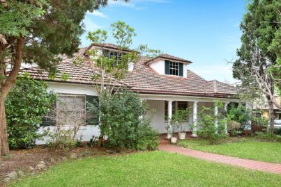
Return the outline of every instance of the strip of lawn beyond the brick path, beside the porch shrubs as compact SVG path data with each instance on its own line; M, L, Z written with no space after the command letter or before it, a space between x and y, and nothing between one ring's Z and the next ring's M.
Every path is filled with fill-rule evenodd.
M181 140L179 145L203 152L249 158L257 161L281 163L281 143L262 142L254 138L229 138L234 142L208 145L206 140Z

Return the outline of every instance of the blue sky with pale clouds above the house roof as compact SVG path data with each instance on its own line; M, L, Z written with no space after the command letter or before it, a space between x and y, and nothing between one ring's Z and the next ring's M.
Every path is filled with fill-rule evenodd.
M231 62L241 45L239 24L245 6L245 0L109 0L105 8L86 14L84 29L86 33L109 31L113 22L126 22L137 33L133 48L148 44L192 61L188 69L208 81L236 83ZM90 44L86 33L81 37L82 47Z

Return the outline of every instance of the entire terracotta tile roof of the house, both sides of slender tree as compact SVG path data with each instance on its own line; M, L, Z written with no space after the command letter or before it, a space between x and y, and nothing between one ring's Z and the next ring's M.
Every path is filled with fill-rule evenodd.
M63 81L61 76L68 74L68 83L87 83L91 84L91 76L96 72L97 67L89 60L89 57L84 55L84 52L89 47L80 49L73 57L61 55L62 61L57 66L59 73L54 80L48 78L48 73L40 70L38 67L26 68L20 71L28 72L33 79L45 81ZM165 55L165 58L172 58ZM82 59L82 65L74 65L73 62L77 58ZM207 97L228 97L236 94L233 86L220 81L206 81L201 76L188 70L187 77L167 76L158 74L149 65L147 65L146 57L141 57L135 65L135 70L128 74L122 84L130 87L137 92L159 93L169 95L198 95Z

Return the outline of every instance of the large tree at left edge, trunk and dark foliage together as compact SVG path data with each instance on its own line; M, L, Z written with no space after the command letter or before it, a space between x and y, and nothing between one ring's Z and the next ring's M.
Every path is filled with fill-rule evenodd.
M77 51L87 11L107 0L1 0L0 1L0 154L7 155L5 99L25 63L56 72L57 54ZM10 71L6 74L6 67Z

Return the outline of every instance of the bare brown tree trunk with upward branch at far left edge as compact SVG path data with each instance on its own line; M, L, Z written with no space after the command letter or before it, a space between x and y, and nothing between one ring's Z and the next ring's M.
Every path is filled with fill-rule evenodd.
M15 47L15 62L13 64L13 69L10 71L10 74L3 79L0 84L0 155L6 156L9 154L9 144L8 144L8 131L6 124L6 111L5 111L5 99L12 88L15 79L17 79L17 74L20 71L20 65L22 63L24 48L23 38L17 38L17 44ZM4 63L1 63L0 75L5 76L6 66Z

